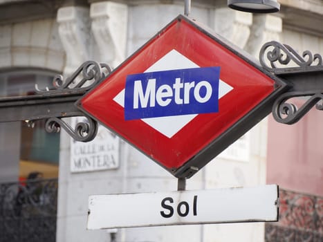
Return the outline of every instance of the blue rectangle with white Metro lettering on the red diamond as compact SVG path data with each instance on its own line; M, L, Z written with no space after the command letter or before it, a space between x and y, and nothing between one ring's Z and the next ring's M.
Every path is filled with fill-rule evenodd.
M128 75L124 119L218 112L219 76L219 66Z

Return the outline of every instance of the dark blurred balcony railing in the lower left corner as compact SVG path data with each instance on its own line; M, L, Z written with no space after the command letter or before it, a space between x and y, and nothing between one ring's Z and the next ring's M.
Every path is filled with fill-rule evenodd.
M0 242L56 240L57 179L0 183Z

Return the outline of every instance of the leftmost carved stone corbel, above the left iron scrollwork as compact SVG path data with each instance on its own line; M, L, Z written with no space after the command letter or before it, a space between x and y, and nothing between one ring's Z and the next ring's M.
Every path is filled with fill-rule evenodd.
M59 37L66 52L64 75L73 73L80 64L89 60L89 8L70 6L57 12Z

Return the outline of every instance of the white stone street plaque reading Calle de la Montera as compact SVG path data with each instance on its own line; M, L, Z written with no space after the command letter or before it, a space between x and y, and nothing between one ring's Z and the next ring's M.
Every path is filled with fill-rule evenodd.
M83 121L72 118L72 127ZM99 171L119 167L120 138L99 126L98 134L91 142L77 142L71 138L71 172Z

